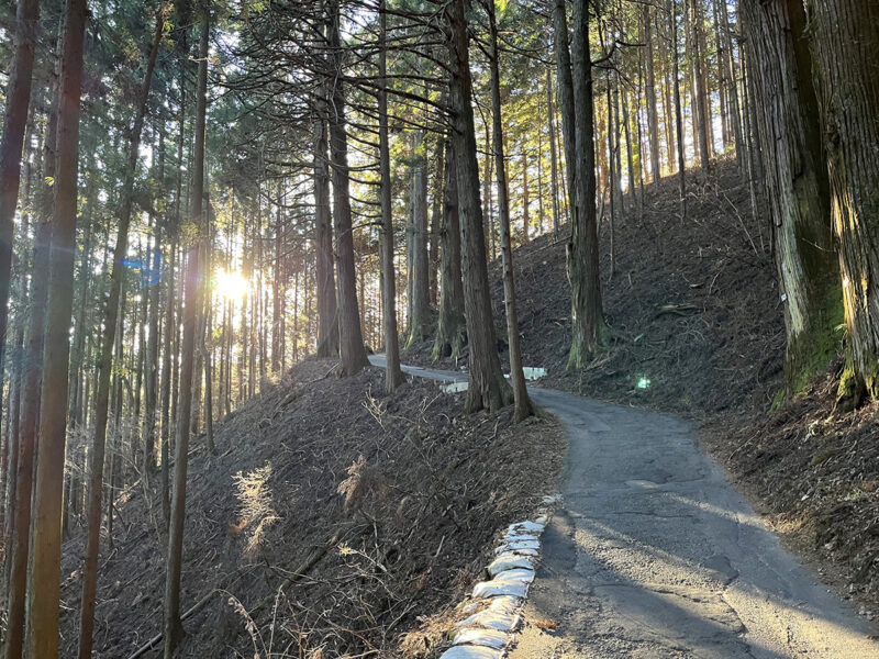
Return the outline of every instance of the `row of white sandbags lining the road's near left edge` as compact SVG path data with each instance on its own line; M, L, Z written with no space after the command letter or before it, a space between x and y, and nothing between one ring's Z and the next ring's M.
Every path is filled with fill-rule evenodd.
M544 496L534 520L511 524L486 567L491 577L474 587L472 595L459 606L468 617L449 632L452 648L439 659L501 659L515 637L520 612L534 581L541 549L541 534L553 509L561 501Z

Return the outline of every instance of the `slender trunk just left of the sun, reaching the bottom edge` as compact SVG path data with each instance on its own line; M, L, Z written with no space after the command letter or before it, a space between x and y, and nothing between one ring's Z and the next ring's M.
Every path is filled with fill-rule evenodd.
M192 157L192 211L191 222L200 236L209 235L204 227L204 115L208 90L208 37L210 35L210 10L202 7L201 37L199 41L199 71L196 82L196 145ZM196 325L203 300L203 280L200 279L200 243L189 250L186 265L186 292L183 309L183 338L180 350L180 402L177 420L177 445L174 455L174 492L171 494L171 518L168 525L167 571L165 578L164 654L173 659L174 650L183 635L180 622L180 571L183 552L183 522L186 520L186 474L189 461L189 422L192 412L192 375L196 353Z

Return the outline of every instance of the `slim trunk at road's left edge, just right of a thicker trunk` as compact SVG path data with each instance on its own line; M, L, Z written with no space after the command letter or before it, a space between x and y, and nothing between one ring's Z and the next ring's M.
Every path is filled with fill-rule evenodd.
M507 168L503 157L503 118L501 116L501 74L498 48L498 22L494 3L488 4L489 37L491 44L491 122L494 145L494 170L498 183L498 217L501 227L501 259L503 261L503 303L507 315L507 337L510 345L510 380L513 384L515 421L520 422L534 413L522 371L522 348L519 342L519 316L515 308L515 281L513 279L513 249L510 245L510 200L507 189ZM527 190L527 183L525 183ZM525 206L527 209L527 205ZM527 211L525 212L527 219ZM525 223L527 226L527 220ZM527 230L525 231L527 235Z

